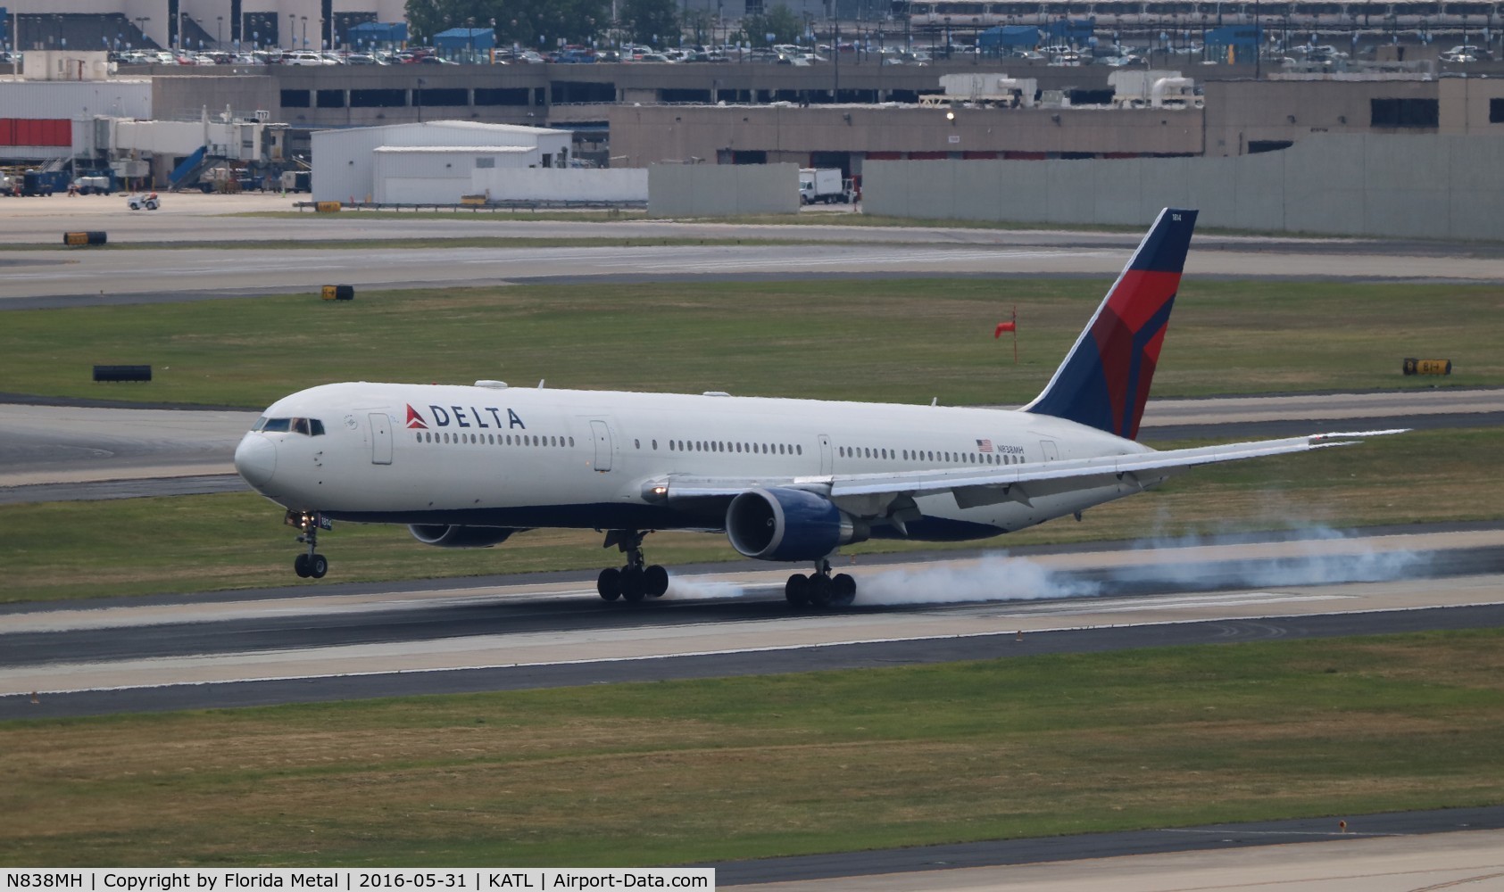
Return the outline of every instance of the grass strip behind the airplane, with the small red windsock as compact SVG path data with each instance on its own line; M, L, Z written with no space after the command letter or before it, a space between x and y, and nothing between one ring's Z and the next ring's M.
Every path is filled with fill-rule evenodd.
M5 313L0 391L259 408L328 381L726 390L1023 403L1104 280L600 284L362 292ZM1017 305L1020 364L991 337ZM1504 384L1504 289L1199 281L1182 287L1155 396ZM1450 358L1447 379L1400 375ZM98 385L93 364L152 364Z

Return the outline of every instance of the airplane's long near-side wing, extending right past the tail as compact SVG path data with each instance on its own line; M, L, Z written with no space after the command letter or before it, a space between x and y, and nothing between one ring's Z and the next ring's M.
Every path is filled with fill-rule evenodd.
M1185 450L1151 450L1120 456L1066 459L1005 466L937 468L926 471L896 471L890 474L832 474L817 477L669 477L651 484L653 496L669 504L728 499L757 487L788 487L824 495L842 510L859 517L881 517L895 505L911 505L914 496L949 492L963 508L1108 486L1122 480L1158 483L1164 477L1218 462L1238 462L1263 456L1304 453L1310 450L1354 445L1369 436L1405 433L1396 430L1360 430L1346 433L1313 433L1286 439L1262 439Z

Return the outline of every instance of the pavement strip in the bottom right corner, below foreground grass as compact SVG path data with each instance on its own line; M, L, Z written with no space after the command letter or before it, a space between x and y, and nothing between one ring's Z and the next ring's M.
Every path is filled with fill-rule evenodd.
M1501 827L1504 808L1444 809L923 845L868 853L854 875L848 854L714 866L717 886L749 892L815 877L824 892L1496 892Z

